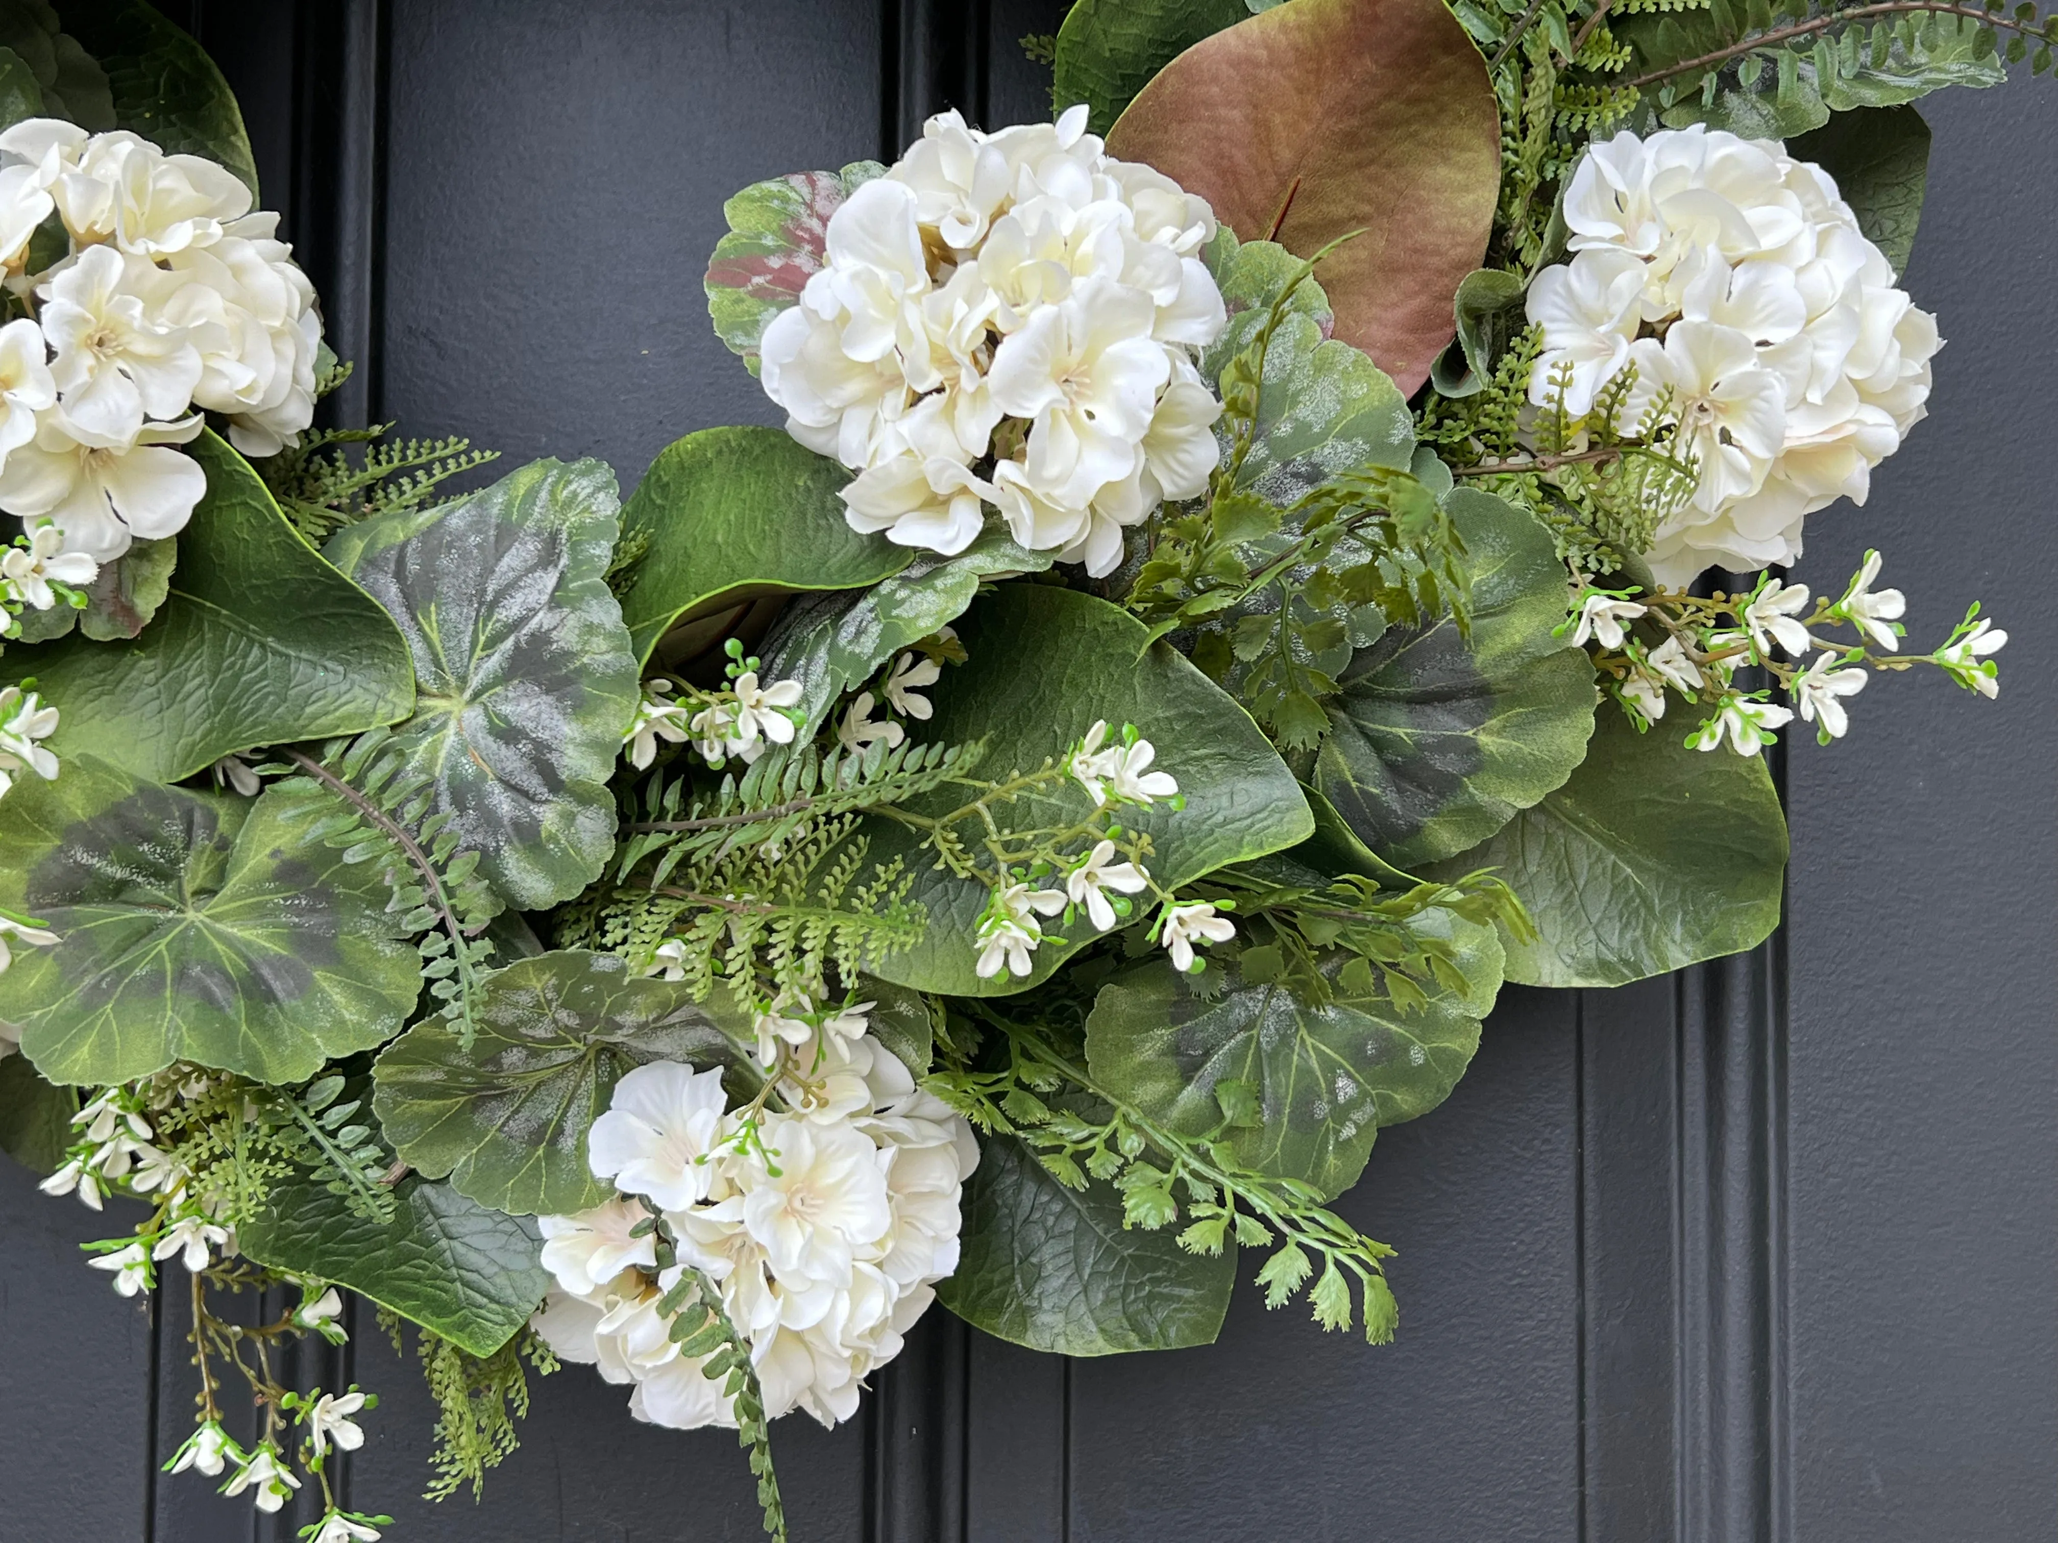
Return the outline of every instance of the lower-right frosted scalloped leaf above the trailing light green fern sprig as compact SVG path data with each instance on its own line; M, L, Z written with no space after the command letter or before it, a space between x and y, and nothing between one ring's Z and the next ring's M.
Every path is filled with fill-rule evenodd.
M1498 981L1492 928L1461 926L1471 936L1459 967ZM1478 1014L1449 992L1414 1012L1348 994L1317 1008L1284 985L1231 977L1204 1000L1163 961L1103 985L1087 1018L1087 1064L1109 1095L1206 1140L1237 1088L1255 1088L1257 1119L1231 1119L1225 1138L1237 1160L1301 1179L1325 1199L1358 1181L1381 1125L1443 1103L1478 1047Z

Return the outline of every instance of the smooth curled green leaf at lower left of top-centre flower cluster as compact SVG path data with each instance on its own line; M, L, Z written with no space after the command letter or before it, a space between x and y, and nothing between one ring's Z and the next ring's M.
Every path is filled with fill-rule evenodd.
M910 562L908 547L860 535L838 492L850 473L778 428L704 428L667 444L622 512L624 539L646 541L622 617L648 662L718 640L755 599L864 588Z

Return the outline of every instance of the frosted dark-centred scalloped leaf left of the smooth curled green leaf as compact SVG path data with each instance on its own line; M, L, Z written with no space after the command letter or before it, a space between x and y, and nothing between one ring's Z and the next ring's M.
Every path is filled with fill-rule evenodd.
M615 477L533 461L451 504L342 529L329 558L399 621L420 702L395 737L480 872L537 911L601 874L636 656L607 588Z

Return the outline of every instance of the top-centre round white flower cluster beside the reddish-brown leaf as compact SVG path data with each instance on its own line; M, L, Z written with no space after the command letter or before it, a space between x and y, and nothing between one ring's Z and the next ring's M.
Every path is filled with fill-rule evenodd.
M766 391L858 473L854 529L949 555L992 504L1021 545L1113 572L1124 527L1214 471L1212 237L1085 107L998 134L943 113L829 216L827 265L766 327Z

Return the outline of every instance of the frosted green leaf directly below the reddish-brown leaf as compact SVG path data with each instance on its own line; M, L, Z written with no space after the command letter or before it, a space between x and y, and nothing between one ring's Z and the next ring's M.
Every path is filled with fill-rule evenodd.
M1257 335L1272 302L1305 263L1270 241L1216 239L1208 261L1237 313L1200 368L1218 376ZM1237 486L1288 506L1340 471L1379 465L1406 471L1416 448L1408 399L1360 350L1329 337L1327 300L1313 278L1301 282L1266 346L1257 393L1257 438ZM1229 453L1229 424L1216 424Z

